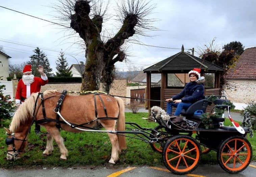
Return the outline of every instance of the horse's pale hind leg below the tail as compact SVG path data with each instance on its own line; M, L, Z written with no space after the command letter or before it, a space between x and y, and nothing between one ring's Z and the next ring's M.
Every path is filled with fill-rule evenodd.
M110 121L110 120L108 120L108 121ZM116 122L116 120L112 120L112 121ZM115 130L114 127L115 127L116 123L114 123L113 126L108 126L108 125L104 124L104 122L102 121L101 124L106 128L106 130L112 130L112 131ZM116 134L110 134L110 133L107 133L107 134L108 134L108 137L112 144L111 158L108 162L111 164L116 164L116 161L119 158L119 152L121 151L119 148L118 137Z

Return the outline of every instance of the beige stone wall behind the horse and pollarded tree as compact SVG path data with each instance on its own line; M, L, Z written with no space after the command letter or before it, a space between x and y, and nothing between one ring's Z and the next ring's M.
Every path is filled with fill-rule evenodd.
M63 83L63 84L46 84L41 87L41 92L44 92L46 90L58 90L58 91L63 91L63 90L68 90L68 91L76 91L80 92L81 88L81 83ZM102 84L100 84L100 90L102 91ZM126 96L126 79L119 79L119 80L114 80L114 82L111 85L110 88L110 95L119 95L119 96ZM74 95L74 94L73 94ZM125 101L125 98L123 98Z

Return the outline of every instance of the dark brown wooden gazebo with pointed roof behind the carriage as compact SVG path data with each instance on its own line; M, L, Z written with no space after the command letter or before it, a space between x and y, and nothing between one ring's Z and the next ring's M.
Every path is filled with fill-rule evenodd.
M208 61L202 60L199 57L184 52L184 47L182 46L181 52L143 70L147 73L147 99L165 100L181 92L184 87L168 86L168 74L184 73L185 76L185 73L188 73L193 68L201 68L201 76L204 76L204 73L215 73L214 88L205 88L205 96L221 94L220 71L223 71L224 69ZM161 87L151 87L151 74L153 73L161 73ZM146 102L146 107L149 111L153 106L160 106L162 109L166 110L166 102L149 100ZM210 107L207 109L209 110Z

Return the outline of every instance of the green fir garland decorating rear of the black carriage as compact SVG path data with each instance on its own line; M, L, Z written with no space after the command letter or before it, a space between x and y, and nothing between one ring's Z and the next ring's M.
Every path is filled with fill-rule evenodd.
M210 105L219 97L215 95L210 95L207 100L210 102ZM228 105L230 106L230 109L234 109L235 106L231 101L223 102L222 105ZM222 114L224 113L225 109L223 108L214 108L214 113L203 113L202 114L202 123L204 124L204 127L206 129L209 128L217 128L219 125L213 124L214 119L222 117Z

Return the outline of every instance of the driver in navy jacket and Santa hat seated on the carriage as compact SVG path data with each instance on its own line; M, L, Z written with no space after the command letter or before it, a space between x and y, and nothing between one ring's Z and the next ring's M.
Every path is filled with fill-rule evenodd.
M174 116L179 116L182 109L188 109L194 102L204 99L204 77L200 77L200 68L194 68L188 72L190 82L186 84L185 88L167 101L167 114L172 114L172 106L176 107ZM173 101L173 102L169 102Z

